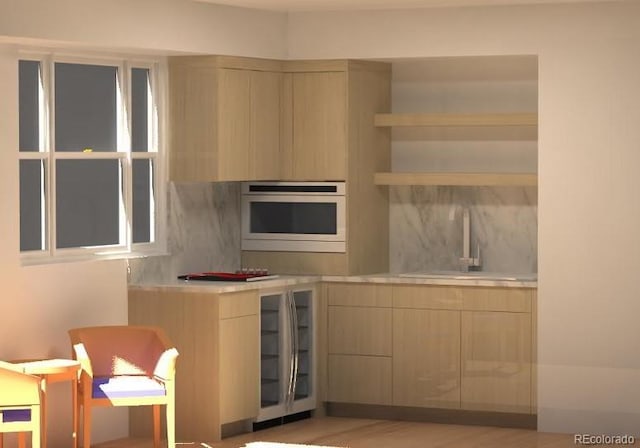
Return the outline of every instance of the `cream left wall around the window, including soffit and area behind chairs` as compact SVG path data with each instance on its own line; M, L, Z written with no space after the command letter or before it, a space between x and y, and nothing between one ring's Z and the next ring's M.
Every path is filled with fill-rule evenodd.
M285 24L285 14L186 0L0 2L0 359L68 357L69 328L127 322L124 261L21 267L15 44L277 58ZM49 445L68 446L68 383L50 389L49 423ZM97 410L93 442L127 433L126 409Z

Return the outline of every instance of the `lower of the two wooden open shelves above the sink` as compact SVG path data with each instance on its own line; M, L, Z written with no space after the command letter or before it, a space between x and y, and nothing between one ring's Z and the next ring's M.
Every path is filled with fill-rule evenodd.
M535 173L376 173L376 185L530 186L538 185Z

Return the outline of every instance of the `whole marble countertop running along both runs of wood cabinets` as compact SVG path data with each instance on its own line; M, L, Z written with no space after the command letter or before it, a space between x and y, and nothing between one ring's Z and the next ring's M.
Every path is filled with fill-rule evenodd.
M271 280L254 282L212 282L203 280L167 280L166 282L149 282L130 284L133 290L167 290L208 292L213 294L247 291L253 289L277 289L286 286L302 285L315 282L343 282L343 283L376 283L403 285L448 285L448 286L487 286L503 288L537 288L535 280L494 280L483 278L457 279L451 278L410 278L400 277L398 274L381 273L370 275L281 275Z

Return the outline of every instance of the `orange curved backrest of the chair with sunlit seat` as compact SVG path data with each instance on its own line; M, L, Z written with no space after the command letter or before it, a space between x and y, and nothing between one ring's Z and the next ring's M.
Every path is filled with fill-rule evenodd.
M72 345L84 345L94 377L152 376L160 356L170 348L156 327L85 327L70 330L69 336Z

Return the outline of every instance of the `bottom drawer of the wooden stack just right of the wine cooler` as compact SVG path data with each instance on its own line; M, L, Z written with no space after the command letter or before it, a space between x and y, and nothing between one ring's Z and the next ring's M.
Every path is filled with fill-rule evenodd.
M391 404L391 358L329 355L328 401Z

